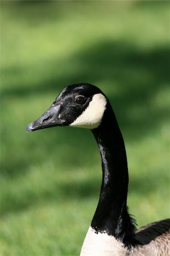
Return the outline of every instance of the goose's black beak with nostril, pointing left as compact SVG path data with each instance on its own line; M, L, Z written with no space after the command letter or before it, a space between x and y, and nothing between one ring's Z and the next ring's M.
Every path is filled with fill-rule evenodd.
M55 106L51 105L51 107L44 114L42 114L34 122L27 125L27 131L35 131L52 126L63 126L65 120L59 118L60 110L61 104L57 104Z

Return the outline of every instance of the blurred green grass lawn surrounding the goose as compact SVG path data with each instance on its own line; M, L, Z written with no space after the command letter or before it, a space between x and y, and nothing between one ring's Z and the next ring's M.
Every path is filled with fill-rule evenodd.
M1 1L1 56L1 255L80 253L96 142L70 127L26 133L69 84L97 85L113 105L138 225L168 217L168 1Z

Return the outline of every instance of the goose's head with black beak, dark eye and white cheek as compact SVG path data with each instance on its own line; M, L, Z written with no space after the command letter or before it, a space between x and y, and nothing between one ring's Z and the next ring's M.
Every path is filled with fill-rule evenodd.
M96 86L69 85L61 91L45 113L27 126L27 131L53 126L73 126L92 130L101 124L106 105L106 96Z

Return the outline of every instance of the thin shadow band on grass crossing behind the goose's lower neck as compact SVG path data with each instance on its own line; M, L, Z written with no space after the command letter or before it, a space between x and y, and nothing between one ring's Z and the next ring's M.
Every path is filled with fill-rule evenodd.
M156 176L159 184L162 180L161 173ZM143 198L157 192L157 180L151 174L145 174L142 177L136 177L135 180L130 180L130 193L142 195ZM38 204L46 204L51 201L56 205L64 201L79 201L85 199L96 199L98 201L99 191L101 186L101 177L96 176L93 179L84 180L65 180L59 183L53 181L49 187L44 187L40 193L35 193L31 188L29 191L24 191L23 195L16 198L15 195L7 195L1 202L1 217L6 217L7 214L20 212ZM97 207L96 201L96 207ZM95 206L94 206L95 208Z

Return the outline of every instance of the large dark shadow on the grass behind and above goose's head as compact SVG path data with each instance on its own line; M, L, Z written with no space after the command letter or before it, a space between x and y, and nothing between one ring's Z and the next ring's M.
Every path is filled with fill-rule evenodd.
M3 89L2 96L26 97L29 94L45 94L47 92L60 92L64 86L76 84L78 82L89 82L101 84L103 92L106 87L113 86L115 89L121 88L121 98L125 98L130 104L138 105L138 100L146 100L151 97L162 86L168 86L169 82L169 47L154 48L151 51L144 51L133 44L113 42L106 40L97 45L87 48L84 51L74 53L73 56L60 61L63 72L56 74L58 69L57 59L49 62L50 71L44 70L44 73L51 73L51 79L46 79L40 84L23 87L19 84L18 88ZM77 64L78 69L73 68L69 73L68 68ZM34 67L28 67L31 69ZM2 70L11 75L21 74L23 70L16 67L10 67ZM160 88L161 86L161 88ZM57 95L54 94L54 97ZM110 97L110 95L107 95ZM116 95L117 97L117 95ZM123 100L119 102L122 105ZM132 102L131 102L132 100ZM114 102L113 102L114 103ZM126 103L126 102L125 102Z

